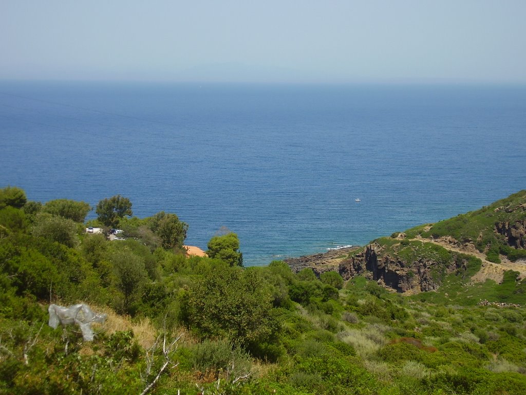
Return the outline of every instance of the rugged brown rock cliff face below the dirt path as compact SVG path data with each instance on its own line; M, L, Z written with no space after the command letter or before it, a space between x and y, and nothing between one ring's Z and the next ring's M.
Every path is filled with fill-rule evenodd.
M439 268L437 262L428 259L406 262L384 254L379 244L372 243L362 252L340 262L338 272L344 280L362 274L398 292L419 292L436 290L444 275L466 263L457 258L450 266Z

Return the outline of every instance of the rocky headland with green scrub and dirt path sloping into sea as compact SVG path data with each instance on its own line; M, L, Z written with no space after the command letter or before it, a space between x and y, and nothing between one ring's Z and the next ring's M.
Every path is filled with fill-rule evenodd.
M437 290L455 273L475 282L503 281L513 270L526 277L526 191L449 220L378 238L364 247L286 259L293 272L356 275L397 292ZM500 273L500 274L499 274ZM475 275L476 274L476 275ZM471 281L470 280L470 281Z

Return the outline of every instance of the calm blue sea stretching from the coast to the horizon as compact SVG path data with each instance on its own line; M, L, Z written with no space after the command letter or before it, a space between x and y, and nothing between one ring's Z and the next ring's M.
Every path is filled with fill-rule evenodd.
M203 249L226 226L264 265L525 189L526 87L0 82L6 185L121 194Z

